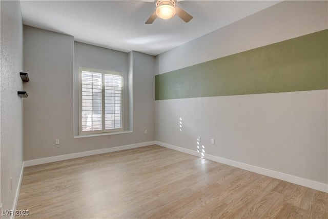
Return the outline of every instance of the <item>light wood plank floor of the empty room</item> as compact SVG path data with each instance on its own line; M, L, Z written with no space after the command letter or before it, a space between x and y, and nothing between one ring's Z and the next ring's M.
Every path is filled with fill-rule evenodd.
M155 145L26 167L17 210L29 210L25 218L328 218L327 193Z

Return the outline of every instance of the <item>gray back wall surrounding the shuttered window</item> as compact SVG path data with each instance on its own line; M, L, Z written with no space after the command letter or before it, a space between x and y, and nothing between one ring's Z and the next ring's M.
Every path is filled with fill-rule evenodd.
M25 161L155 140L154 56L76 45L78 62L86 48L92 48L90 52L95 55L93 63L85 63L93 66L84 67L105 68L109 61L103 55L110 59L117 55L120 61L114 64L111 60L110 68L133 75L129 78L133 80L133 105L129 104L133 110L133 132L74 138L74 38L24 26L24 67L30 74L26 84L30 96L24 103ZM132 72L129 63L133 65ZM144 134L145 129L148 134ZM55 145L56 138L59 145Z

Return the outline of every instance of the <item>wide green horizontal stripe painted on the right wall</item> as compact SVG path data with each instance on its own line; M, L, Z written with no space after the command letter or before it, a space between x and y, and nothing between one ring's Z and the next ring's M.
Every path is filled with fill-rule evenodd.
M156 100L328 89L328 30L156 75Z

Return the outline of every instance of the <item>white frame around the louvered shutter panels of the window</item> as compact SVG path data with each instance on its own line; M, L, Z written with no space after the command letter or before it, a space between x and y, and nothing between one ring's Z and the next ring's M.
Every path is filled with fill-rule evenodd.
M89 71L94 73L101 73L101 130L83 131L82 130L82 72ZM121 105L120 105L120 123L121 128L106 130L106 113L105 113L105 75L119 75L121 77ZM79 85L79 135L90 135L99 133L113 133L124 131L124 74L120 72L107 71L101 69L79 67L78 68L78 85Z

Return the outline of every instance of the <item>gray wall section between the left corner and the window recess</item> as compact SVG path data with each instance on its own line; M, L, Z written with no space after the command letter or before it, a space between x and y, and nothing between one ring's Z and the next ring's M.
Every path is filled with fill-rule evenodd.
M71 153L73 36L24 26L24 158ZM55 139L60 145L55 147Z

